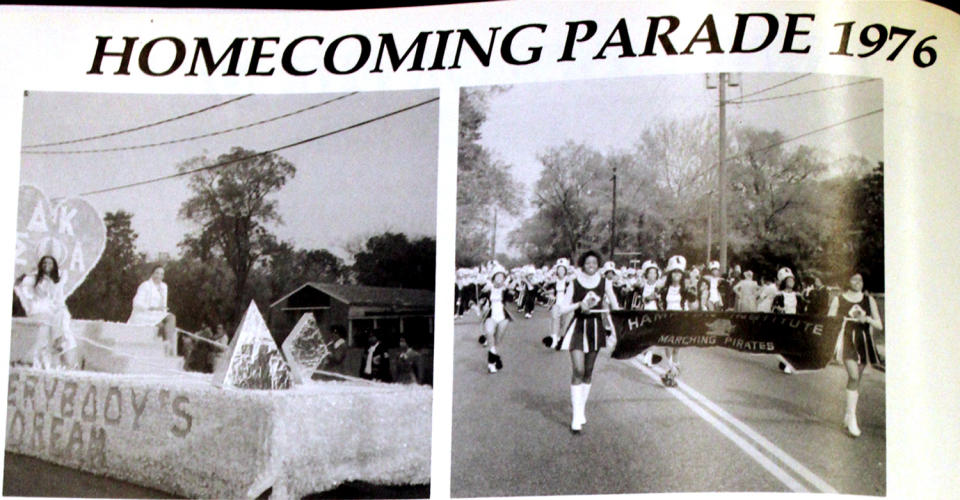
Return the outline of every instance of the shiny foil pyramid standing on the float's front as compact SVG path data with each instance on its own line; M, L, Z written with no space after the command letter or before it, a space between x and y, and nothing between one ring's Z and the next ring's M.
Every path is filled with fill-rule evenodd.
M239 389L289 389L293 385L290 366L277 349L255 302L250 301L230 341L227 360L214 373L213 382Z

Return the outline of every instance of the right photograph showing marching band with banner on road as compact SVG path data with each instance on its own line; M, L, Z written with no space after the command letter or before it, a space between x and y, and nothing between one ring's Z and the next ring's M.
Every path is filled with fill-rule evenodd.
M454 497L885 496L883 82L464 88Z

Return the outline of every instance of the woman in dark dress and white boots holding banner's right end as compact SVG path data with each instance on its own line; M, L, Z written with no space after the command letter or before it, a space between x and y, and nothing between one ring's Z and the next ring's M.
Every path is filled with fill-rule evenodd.
M863 276L855 273L847 287L830 302L828 316L843 316L842 337L843 365L847 369L847 405L843 424L853 437L860 436L857 425L857 400L860 397L860 377L867 363L880 365L873 332L870 328L883 330L877 302L863 291Z

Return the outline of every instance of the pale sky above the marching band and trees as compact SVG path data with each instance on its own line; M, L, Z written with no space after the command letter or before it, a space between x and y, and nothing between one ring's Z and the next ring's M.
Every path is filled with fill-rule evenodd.
M798 78L800 77L800 78ZM861 82L859 76L737 73L737 87L727 89L727 100L788 96ZM796 79L796 80L794 80ZM697 116L717 121L717 89L707 89L706 75L686 74L606 80L578 80L522 84L493 92L480 143L493 157L512 166L514 177L531 188L540 175L537 155L574 141L609 153L630 149L647 127L661 121ZM715 85L716 74L711 84ZM770 90L750 96L768 87ZM749 126L779 130L792 138L883 108L879 80L756 103L726 106L728 130ZM883 113L818 132L785 147L803 144L824 151L827 157L860 155L871 162L883 160ZM497 251L514 255L507 236L532 213L529 203L521 217L501 217L497 226Z

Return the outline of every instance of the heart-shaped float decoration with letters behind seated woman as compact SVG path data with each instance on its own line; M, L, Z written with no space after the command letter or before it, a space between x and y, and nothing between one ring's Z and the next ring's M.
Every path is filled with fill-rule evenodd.
M44 255L57 260L64 296L83 283L107 246L107 227L86 200L50 202L39 188L20 186L14 276L37 272Z

